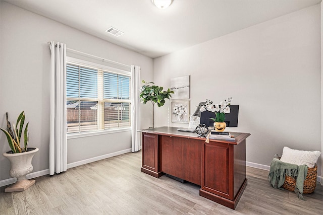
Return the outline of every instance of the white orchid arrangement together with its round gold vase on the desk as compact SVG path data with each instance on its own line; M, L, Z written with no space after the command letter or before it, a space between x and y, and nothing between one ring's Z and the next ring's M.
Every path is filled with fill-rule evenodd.
M206 103L202 104L199 108L200 111L211 111L216 114L216 118L209 118L214 121L214 129L217 131L224 131L227 127L227 124L224 122L226 119L226 113L230 113L230 102L232 97L226 99L219 104L213 104L212 101L206 99Z

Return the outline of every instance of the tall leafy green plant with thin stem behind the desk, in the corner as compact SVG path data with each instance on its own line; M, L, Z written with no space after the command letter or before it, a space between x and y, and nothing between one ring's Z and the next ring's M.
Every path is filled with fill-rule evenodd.
M140 99L143 104L146 104L148 101L152 104L152 127L154 127L154 106L157 104L158 107L161 107L165 104L165 99L170 99L174 91L167 89L163 91L163 87L159 87L153 82L146 83L144 80L142 82L144 85L140 88Z

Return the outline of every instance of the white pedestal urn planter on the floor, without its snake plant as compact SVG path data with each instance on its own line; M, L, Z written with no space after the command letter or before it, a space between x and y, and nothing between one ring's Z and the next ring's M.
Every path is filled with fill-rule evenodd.
M38 148L28 148L27 152L23 153L3 154L11 164L9 174L17 178L17 182L7 187L5 192L24 191L35 183L35 180L26 180L26 175L32 172L31 160L38 151Z

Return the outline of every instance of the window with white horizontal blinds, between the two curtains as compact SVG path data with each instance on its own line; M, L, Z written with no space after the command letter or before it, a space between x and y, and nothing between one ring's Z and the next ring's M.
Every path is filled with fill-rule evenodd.
M102 67L67 63L67 133L131 126L130 73Z

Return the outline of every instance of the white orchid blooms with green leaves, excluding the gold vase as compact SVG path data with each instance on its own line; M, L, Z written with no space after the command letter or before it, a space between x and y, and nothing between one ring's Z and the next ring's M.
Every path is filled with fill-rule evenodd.
M225 114L230 113L230 102L231 102L232 97L229 99L224 100L224 102L220 102L220 105L215 104L213 105L213 102L206 99L206 103L204 105L200 106L200 111L211 111L216 114L216 118L210 118L214 122L224 122L225 120Z

